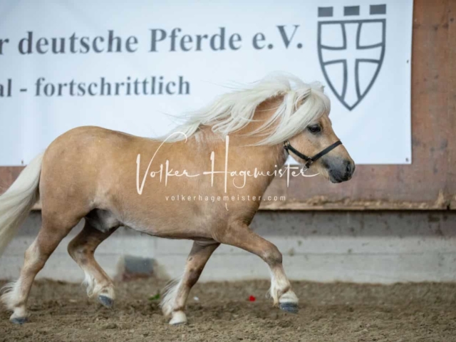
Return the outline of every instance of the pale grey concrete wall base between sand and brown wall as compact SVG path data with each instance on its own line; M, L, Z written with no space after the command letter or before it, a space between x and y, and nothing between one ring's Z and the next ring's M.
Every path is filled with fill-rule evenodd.
M41 226L32 212L0 258L0 279L16 279L24 252ZM456 212L259 212L252 227L284 254L290 279L391 284L456 281ZM63 240L39 278L82 281L83 272L66 252L81 223ZM149 237L118 229L95 257L111 276L125 255L153 258L160 277L180 276L191 241ZM201 281L268 279L261 259L222 246Z

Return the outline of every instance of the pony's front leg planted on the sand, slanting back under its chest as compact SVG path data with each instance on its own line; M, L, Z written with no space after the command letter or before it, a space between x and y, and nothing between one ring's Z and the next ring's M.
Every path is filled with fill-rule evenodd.
M209 257L219 245L219 243L214 241L193 242L192 251L187 257L187 264L182 278L168 287L160 304L163 314L167 317L171 316L170 324L187 323L187 316L185 316L184 312L187 297L192 286L198 281L207 260L209 260Z

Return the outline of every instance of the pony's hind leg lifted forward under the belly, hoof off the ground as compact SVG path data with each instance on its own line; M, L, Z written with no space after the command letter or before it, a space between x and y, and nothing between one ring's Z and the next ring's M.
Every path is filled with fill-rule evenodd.
M113 281L95 261L93 254L98 245L113 234L115 229L117 227L101 232L86 219L83 230L68 244L68 253L86 274L84 283L88 296L97 296L98 301L108 308L113 306L115 298Z

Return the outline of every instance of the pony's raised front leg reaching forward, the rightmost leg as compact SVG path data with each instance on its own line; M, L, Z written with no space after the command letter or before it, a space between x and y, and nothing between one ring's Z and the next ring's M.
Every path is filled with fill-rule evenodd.
M294 314L298 312L298 297L291 290L290 281L282 266L282 254L274 244L255 234L243 222L230 224L224 232L219 232L217 241L242 248L263 259L271 270L270 294L274 306Z

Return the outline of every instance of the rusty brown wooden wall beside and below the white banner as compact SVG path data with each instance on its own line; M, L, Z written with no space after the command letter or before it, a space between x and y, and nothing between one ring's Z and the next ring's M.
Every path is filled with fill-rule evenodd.
M394 80L391 80L392 82ZM415 0L412 165L358 165L339 185L277 178L263 209L456 209L456 0ZM394 123L391 123L394 129ZM4 148L4 147L1 147ZM0 167L0 192L21 167Z

